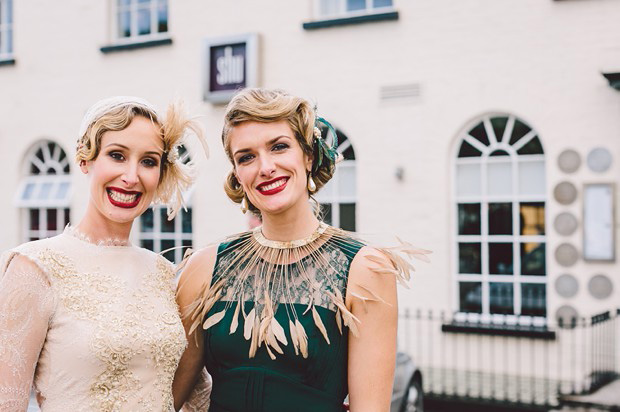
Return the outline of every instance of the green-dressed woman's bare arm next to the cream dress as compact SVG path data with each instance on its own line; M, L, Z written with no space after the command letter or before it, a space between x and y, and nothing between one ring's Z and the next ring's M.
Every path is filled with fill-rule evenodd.
M181 311L188 344L181 357L179 367L174 375L174 382L172 383L174 407L176 410L179 410L190 397L205 366L202 328L199 326L190 334L190 328L194 322L188 316L188 313L189 306L199 298L204 286L211 283L216 257L216 246L196 252L187 262L179 279L177 304Z

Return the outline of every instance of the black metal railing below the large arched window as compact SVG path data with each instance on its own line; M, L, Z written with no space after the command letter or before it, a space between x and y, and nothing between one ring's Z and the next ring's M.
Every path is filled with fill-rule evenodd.
M399 327L427 399L544 409L619 376L620 309L557 322L407 310Z

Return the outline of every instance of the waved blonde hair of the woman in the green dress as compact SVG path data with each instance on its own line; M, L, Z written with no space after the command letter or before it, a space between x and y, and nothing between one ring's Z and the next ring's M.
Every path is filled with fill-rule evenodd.
M245 196L241 184L235 177L234 159L230 151L230 132L243 122L272 123L286 120L295 134L295 139L301 146L302 151L313 158L313 139L316 112L314 106L306 99L293 96L280 89L248 88L240 91L233 97L224 115L224 127L222 129L222 145L228 159L233 164L233 170L228 174L224 182L224 190L228 197L235 203L241 203ZM334 164L323 164L311 173L316 184L317 191L334 175ZM254 214L260 215L260 211L248 200L248 208ZM318 214L318 208L315 208Z

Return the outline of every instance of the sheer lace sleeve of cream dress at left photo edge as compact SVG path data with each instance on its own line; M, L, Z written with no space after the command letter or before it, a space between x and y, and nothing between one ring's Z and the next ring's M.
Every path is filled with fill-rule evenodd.
M45 273L31 260L18 254L3 260L7 263L0 266L0 410L26 410L54 299Z

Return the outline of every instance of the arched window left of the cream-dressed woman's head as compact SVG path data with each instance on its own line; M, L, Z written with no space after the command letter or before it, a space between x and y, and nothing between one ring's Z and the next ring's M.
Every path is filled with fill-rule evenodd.
M58 144L41 141L28 152L16 202L25 215L24 241L55 236L69 223L69 173L69 159Z

